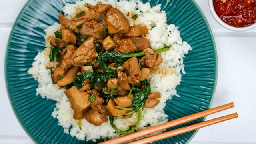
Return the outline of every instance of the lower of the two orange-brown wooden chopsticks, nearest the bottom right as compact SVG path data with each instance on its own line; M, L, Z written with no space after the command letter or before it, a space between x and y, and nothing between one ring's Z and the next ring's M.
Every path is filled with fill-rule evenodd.
M230 119L237 118L237 117L238 117L238 114L233 113L233 114L229 114L229 115L222 116L222 117L219 117L219 118L214 118L212 120L207 120L207 121L204 121L204 122L199 122L197 124L192 124L190 126L185 126L183 128L178 128L176 130L171 130L169 132L164 132L162 134L157 134L155 136L150 136L148 138L144 138L144 139L141 139L141 140L130 142L128 144L148 144L150 142L155 142L155 141L162 140L162 139L165 139L165 138L170 138L172 136L177 136L179 134L184 134L186 132L191 132L191 131L197 130L199 128L203 128L203 127L206 127L206 126L210 126L212 124L217 124L217 123L220 123L220 122L224 122L226 120L230 120Z

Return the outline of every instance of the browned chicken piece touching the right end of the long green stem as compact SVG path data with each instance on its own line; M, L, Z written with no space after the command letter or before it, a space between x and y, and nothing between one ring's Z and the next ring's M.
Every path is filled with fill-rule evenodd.
M143 52L145 52L145 65L152 68L156 63L158 53L154 52L151 48L146 48Z

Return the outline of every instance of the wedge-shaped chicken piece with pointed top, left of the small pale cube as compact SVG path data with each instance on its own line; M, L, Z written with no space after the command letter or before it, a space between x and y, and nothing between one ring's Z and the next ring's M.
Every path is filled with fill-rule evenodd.
M87 62L93 62L98 57L95 50L94 38L88 38L83 44L74 52L70 62L74 66L82 66Z

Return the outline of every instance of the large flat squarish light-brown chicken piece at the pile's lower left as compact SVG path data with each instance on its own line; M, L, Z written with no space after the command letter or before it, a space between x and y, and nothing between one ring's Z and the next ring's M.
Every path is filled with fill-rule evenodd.
M89 94L80 92L76 86L66 90L65 94L71 104L71 108L77 113L82 112L82 110L90 105L90 102L88 101Z

